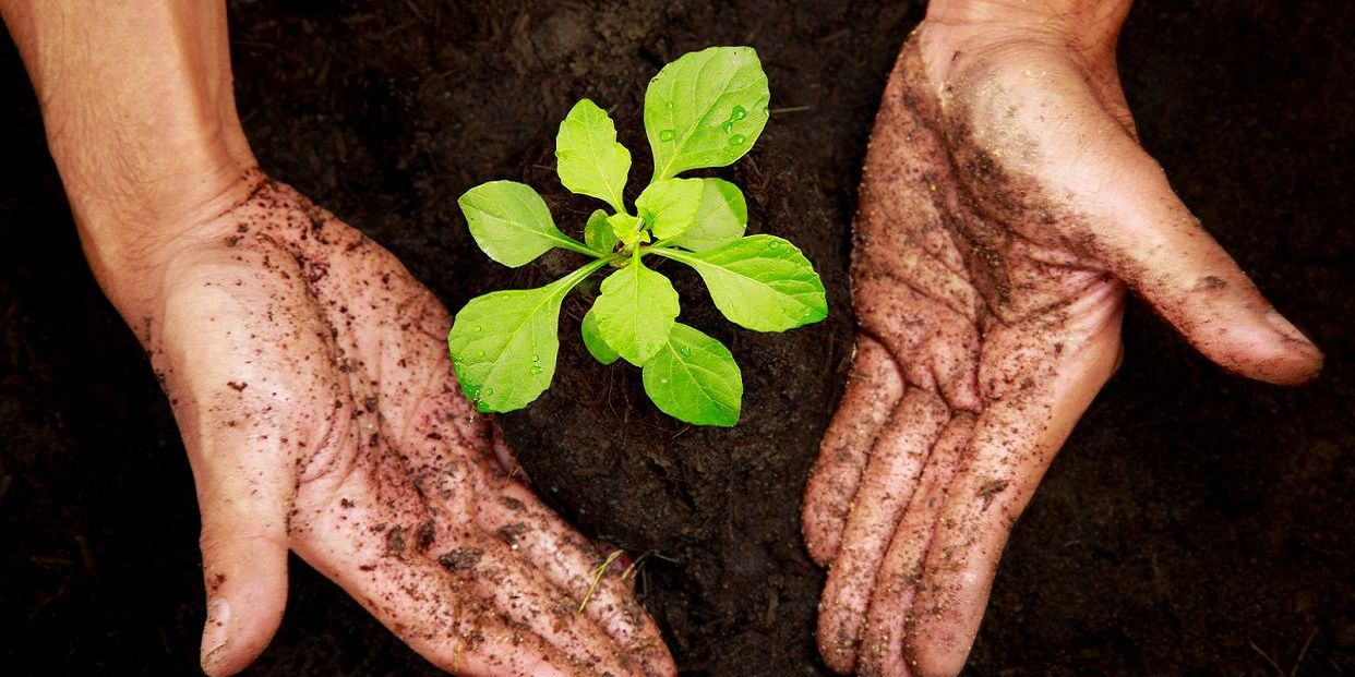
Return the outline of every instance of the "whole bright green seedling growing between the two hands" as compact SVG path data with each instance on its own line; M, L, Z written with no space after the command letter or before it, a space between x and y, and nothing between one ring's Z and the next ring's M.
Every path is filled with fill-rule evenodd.
M526 184L489 181L461 196L470 234L495 261L516 268L556 248L592 259L545 287L485 294L457 313L447 345L478 410L522 409L550 386L561 302L611 267L583 318L588 352L603 364L641 367L645 393L669 416L698 425L738 421L744 386L733 355L676 321L678 292L645 257L695 268L715 307L748 329L785 332L827 317L822 280L799 249L774 236L744 236L748 206L737 185L678 177L743 157L767 123L768 100L752 47L710 47L664 66L645 91L654 175L634 211L625 199L630 152L604 110L588 99L575 104L556 137L560 181L610 207L588 218L583 242L556 227Z

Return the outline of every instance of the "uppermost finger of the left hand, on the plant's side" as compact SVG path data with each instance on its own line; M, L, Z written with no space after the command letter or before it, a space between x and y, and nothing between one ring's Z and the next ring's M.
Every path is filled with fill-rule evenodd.
M505 482L496 498L481 501L476 521L577 600L576 611L581 608L584 616L638 659L645 674L678 673L659 627L635 601L621 574L611 567L600 569L604 558L598 548L541 505L526 486Z

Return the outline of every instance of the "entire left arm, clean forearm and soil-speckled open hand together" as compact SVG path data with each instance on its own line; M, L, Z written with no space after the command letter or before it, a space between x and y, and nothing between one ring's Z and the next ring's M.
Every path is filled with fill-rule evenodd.
M623 567L600 569L459 394L446 309L256 168L224 3L0 12L95 276L183 433L207 674L243 670L272 638L289 550L455 674L676 673Z

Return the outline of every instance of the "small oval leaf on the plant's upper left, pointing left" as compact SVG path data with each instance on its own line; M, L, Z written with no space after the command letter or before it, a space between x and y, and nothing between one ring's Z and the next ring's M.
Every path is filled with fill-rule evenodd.
M556 227L546 200L527 184L482 183L466 191L457 204L461 204L470 236L480 249L509 268L531 263L556 246L589 253Z

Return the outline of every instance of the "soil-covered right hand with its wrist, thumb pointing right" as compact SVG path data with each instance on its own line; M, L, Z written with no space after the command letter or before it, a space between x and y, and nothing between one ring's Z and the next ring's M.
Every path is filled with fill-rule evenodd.
M1126 288L1229 371L1321 368L1138 146L1129 3L1038 4L932 3L875 122L860 333L804 506L841 673L963 668L1012 524L1121 360Z

